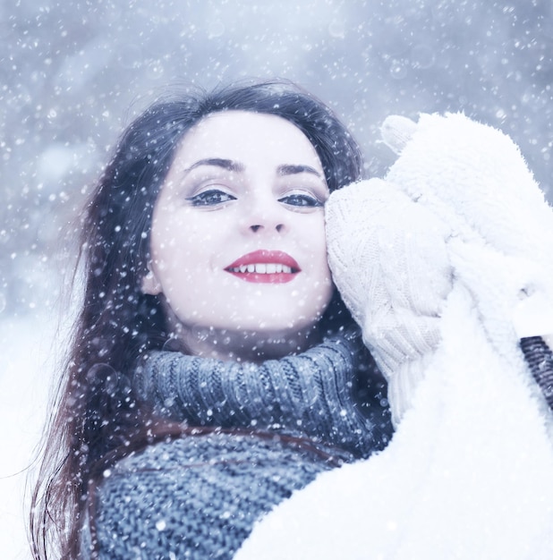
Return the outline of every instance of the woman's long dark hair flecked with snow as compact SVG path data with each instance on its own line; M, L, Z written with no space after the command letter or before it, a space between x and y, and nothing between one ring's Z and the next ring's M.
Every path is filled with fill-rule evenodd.
M123 132L81 216L84 295L32 496L37 559L78 556L84 498L98 464L179 430L152 420L133 394L133 365L168 337L161 301L140 285L157 195L180 140L205 116L228 110L294 123L316 149L330 191L362 178L361 151L345 126L319 99L286 81L173 93ZM336 292L321 327L332 331L351 322Z

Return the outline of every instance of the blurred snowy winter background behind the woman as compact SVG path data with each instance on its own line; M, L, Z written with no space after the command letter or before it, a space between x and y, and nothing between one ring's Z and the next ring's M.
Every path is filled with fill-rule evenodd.
M386 115L464 111L510 133L549 192L551 0L2 0L0 61L4 558L30 557L25 470L63 352L73 216L166 84L297 81L343 116L372 174L390 161Z

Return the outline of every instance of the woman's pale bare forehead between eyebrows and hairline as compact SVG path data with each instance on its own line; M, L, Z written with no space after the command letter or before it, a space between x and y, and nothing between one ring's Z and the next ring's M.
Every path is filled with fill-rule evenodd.
M311 142L293 123L276 115L226 111L204 117L184 136L175 164L188 167L206 157L245 165L305 164L321 170Z

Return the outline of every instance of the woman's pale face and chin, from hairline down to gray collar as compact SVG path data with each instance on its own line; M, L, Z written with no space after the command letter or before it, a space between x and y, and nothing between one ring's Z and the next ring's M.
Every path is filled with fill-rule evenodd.
M283 118L228 111L186 134L157 199L143 291L163 293L189 352L305 345L333 292L327 198L317 152Z

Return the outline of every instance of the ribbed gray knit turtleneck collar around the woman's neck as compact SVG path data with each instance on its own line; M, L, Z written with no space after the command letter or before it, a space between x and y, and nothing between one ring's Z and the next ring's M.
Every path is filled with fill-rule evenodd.
M379 398L373 395L376 407L363 407L353 396L356 376L367 368L362 361L367 354L356 335L261 364L157 351L136 370L134 386L158 415L191 426L277 430L359 457L390 433Z

